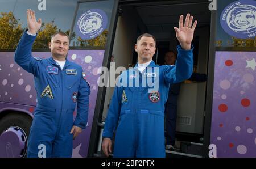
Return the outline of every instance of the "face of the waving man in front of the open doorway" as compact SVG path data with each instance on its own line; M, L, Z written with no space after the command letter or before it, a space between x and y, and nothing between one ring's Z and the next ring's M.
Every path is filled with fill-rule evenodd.
M142 36L141 40L135 45L139 61L149 62L155 54L155 41L152 37Z

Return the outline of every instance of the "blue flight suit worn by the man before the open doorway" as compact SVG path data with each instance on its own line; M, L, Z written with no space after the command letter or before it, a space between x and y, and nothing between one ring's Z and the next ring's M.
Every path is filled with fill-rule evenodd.
M137 64L120 75L102 134L112 139L115 132L114 157L165 157L164 104L168 89L170 83L188 79L193 71L193 47L183 50L178 46L177 50L176 66L158 66L151 61L142 73ZM128 83L138 81L138 87L129 87ZM145 81L149 83L143 85ZM156 81L158 91L148 93Z

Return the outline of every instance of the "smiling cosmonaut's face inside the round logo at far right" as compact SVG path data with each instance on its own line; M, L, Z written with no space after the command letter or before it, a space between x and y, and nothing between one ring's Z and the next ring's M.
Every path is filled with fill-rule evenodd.
M234 23L238 28L249 28L250 26L253 26L254 23L254 16L251 12L241 12L236 15L234 19Z

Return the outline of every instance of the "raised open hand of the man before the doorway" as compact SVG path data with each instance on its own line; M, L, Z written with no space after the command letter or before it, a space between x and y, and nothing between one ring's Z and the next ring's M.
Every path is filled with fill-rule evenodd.
M179 22L179 28L174 27L176 32L176 37L180 42L181 47L184 50L191 49L191 42L193 40L194 31L196 28L197 21L193 22L193 16L190 16L190 14L187 14L185 19L185 24L183 24L183 15L180 15L180 22Z

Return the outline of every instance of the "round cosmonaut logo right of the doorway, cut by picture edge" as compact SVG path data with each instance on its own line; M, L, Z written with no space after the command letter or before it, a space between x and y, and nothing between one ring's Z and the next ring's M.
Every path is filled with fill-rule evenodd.
M256 34L256 1L230 3L221 13L221 26L230 36L250 38Z

